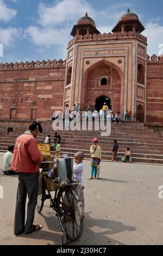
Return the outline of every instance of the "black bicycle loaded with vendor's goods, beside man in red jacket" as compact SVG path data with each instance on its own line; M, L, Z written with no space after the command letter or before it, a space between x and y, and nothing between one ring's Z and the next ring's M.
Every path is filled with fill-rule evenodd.
M84 212L77 192L77 182L61 184L60 178L48 178L47 172L41 172L42 191L37 196L36 210L41 212L46 199L58 216L59 224L68 240L79 240L83 233ZM54 197L51 192L55 191ZM67 240L67 242L68 242ZM63 237L62 237L63 243Z

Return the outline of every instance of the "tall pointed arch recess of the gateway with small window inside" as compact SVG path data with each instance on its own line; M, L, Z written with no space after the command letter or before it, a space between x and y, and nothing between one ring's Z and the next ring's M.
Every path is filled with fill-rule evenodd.
M107 82L103 83L103 78L106 78ZM101 96L104 98L100 99ZM87 109L94 103L100 110L105 101L112 111L124 112L124 74L116 64L100 60L90 66L83 75L80 102L82 109Z

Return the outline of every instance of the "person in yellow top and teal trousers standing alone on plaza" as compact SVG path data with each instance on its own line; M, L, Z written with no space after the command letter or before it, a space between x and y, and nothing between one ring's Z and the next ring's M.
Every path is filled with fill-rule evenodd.
M98 145L98 139L94 138L93 139L93 145L91 145L90 148L90 153L91 153L91 178L89 180L93 179L93 175L97 175L97 167L98 164L101 162L101 147Z

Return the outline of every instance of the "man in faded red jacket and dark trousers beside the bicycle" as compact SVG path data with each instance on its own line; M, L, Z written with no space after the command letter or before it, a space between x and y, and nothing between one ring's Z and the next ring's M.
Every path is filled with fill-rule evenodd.
M39 164L42 161L36 137L42 127L36 121L29 125L29 131L17 137L11 169L18 173L14 234L29 234L40 230L42 225L34 225L37 203ZM28 194L27 220L25 223L26 198Z

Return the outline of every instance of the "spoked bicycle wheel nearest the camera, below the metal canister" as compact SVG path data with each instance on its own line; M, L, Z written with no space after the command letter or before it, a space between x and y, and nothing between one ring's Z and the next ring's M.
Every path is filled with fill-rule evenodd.
M83 233L78 200L71 190L60 190L57 197L58 219L62 231L69 240L77 240Z

